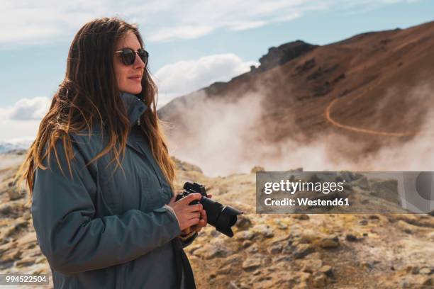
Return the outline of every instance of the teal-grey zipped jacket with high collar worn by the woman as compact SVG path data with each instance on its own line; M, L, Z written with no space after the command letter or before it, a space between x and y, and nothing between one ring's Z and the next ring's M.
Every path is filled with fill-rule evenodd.
M101 134L71 134L72 178L62 142L36 169L33 225L52 270L55 288L175 288L175 242L181 229L167 206L172 190L138 128L147 109L133 94L122 93L132 126L122 167L113 174L111 154L89 166L105 143Z

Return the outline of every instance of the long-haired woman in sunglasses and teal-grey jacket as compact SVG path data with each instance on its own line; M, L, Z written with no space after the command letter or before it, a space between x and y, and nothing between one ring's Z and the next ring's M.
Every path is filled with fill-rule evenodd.
M18 172L55 288L194 288L182 247L206 212L174 200L147 64L135 26L86 23Z

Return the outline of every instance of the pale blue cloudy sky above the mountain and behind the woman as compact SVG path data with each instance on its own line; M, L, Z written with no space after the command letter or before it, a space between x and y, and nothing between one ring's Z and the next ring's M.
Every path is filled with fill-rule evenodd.
M65 77L69 45L94 18L137 23L160 90L158 107L259 65L269 47L327 45L434 20L433 0L0 2L0 142L32 140Z

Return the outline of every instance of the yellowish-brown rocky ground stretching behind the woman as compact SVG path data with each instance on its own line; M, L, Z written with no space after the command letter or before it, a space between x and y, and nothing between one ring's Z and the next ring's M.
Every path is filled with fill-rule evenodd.
M50 273L26 193L11 183L22 158L0 156L0 273ZM254 173L208 178L177 164L179 189L203 183L244 212L233 238L208 225L186 248L197 288L434 288L430 215L256 214Z

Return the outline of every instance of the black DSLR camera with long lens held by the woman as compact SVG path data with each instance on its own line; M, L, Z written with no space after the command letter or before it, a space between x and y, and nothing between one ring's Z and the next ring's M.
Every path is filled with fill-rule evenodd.
M191 183L187 181L184 183L184 191L177 195L175 200L180 200L189 196L191 193L200 193L202 195L201 200L194 200L189 205L195 205L201 203L206 210L206 217L208 224L216 227L218 232L226 234L228 237L233 237L233 232L230 227L237 222L237 215L243 214L240 210L232 208L228 205L222 205L210 198L206 197L206 190L200 183Z

